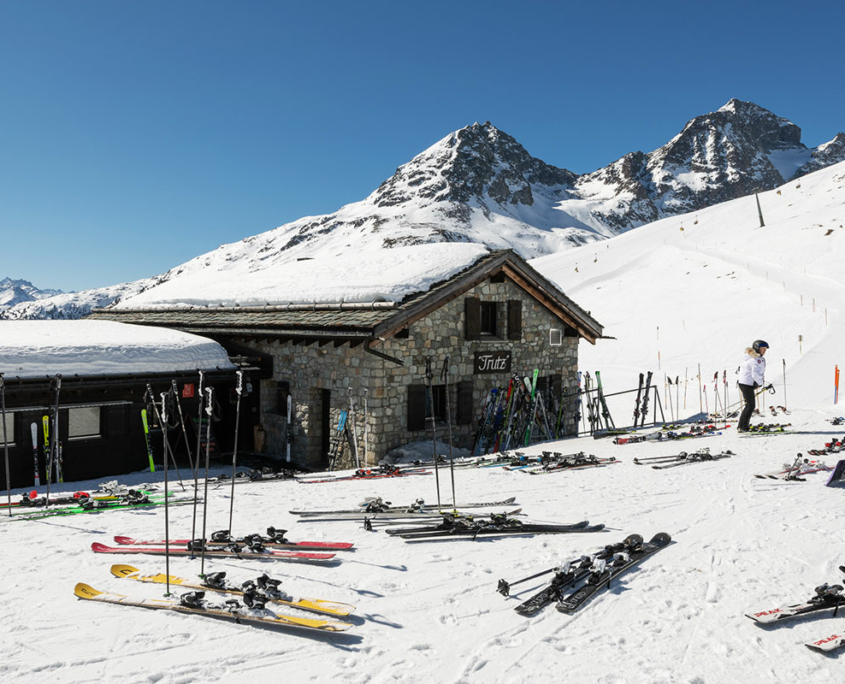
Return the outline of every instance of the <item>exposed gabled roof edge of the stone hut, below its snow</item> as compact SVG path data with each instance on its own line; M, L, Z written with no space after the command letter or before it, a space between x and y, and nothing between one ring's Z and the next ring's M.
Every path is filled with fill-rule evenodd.
M512 250L491 252L460 273L402 302L288 304L246 307L100 309L89 318L156 325L206 335L363 342L395 335L432 311L503 273L589 342L603 328Z

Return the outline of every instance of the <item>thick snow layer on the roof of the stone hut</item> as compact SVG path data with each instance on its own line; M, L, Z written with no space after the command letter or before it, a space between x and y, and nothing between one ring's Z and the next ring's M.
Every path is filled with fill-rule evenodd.
M315 256L261 270L250 271L248 263L238 262L229 269L182 274L115 308L401 301L471 266L488 251L483 245L465 242L392 249L384 249L379 242L342 256Z

